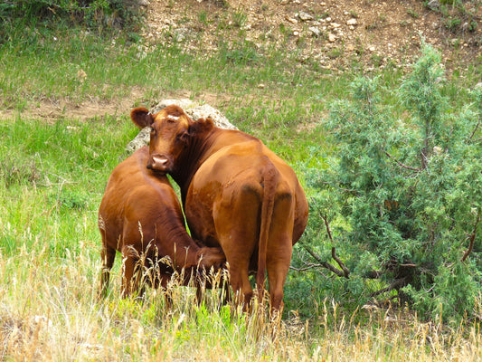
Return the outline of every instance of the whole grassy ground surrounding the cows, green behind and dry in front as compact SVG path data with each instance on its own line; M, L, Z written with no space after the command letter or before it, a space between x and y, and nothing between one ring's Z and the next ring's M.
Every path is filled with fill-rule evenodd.
M146 52L136 33L8 26L0 44L0 358L482 358L477 320L448 327L411 310L338 305L325 297L344 300L345 286L322 273L331 294L304 291L301 300L304 274L291 271L279 329L256 314L217 311L211 292L201 308L191 289L175 286L173 310L158 291L143 302L120 300L119 260L109 297L98 302L97 210L111 170L137 134L130 108L175 97L209 100L285 158L304 183L310 157L336 148L320 125L360 70L321 70L283 47L258 52L249 42L227 43L206 57L163 43ZM402 71L375 75L385 87L383 103L402 112L392 97ZM477 77L462 74L444 91L463 104Z

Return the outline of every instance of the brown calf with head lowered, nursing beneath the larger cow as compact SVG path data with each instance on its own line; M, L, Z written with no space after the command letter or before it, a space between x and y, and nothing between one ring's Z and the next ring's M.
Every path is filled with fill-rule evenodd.
M166 176L146 168L148 158L148 148L139 148L115 167L100 203L102 295L109 285L116 251L124 261L124 297L139 291L141 279L146 277L141 264L153 271L146 277L147 283L165 287L174 271L185 268L184 274L190 275L198 266L218 268L225 262L221 248L202 247L188 235L173 187ZM170 257L174 269L161 261L165 256Z

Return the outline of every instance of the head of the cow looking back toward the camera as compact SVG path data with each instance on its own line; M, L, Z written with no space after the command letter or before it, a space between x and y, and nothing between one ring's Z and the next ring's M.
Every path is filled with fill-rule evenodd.
M137 108L130 112L130 118L139 128L151 128L147 168L163 174L173 172L176 161L186 148L193 120L175 105L156 114Z

